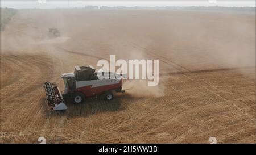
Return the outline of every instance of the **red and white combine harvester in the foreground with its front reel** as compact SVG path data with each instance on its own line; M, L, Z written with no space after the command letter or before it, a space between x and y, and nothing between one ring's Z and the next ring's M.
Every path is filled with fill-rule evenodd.
M105 100L113 98L113 91L124 93L123 79L98 79L92 66L75 66L74 73L63 73L65 89L63 94L55 83L44 82L46 98L53 110L66 110L65 100L71 99L74 104L83 103L86 97L101 95ZM108 72L109 77L111 74ZM116 75L116 74L115 74Z

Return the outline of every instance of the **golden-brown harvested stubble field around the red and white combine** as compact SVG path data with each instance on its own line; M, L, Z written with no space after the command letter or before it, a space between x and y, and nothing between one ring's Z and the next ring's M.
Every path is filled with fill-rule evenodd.
M63 89L61 73L110 54L159 59L159 86L49 110L44 81ZM255 14L19 10L1 32L0 98L0 143L256 143Z

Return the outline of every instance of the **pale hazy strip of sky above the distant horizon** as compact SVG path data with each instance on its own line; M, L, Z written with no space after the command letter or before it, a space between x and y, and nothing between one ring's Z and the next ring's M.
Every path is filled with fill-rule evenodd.
M200 1L49 1L49 0L30 0L30 1L2 1L1 7L12 8L55 8L55 7L84 7L94 6L250 6L255 7L255 0L250 1L220 1L220 0L200 0Z

